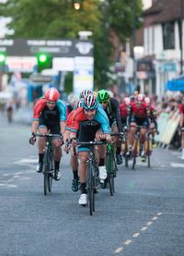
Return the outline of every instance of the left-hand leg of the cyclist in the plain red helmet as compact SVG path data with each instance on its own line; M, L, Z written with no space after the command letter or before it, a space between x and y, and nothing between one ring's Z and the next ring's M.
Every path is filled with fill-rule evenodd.
M42 120L40 120L39 132L40 134L46 134L48 132L48 128L45 126ZM39 163L37 165L38 173L41 173L43 171L44 146L45 146L45 138L39 137L39 140L38 140Z

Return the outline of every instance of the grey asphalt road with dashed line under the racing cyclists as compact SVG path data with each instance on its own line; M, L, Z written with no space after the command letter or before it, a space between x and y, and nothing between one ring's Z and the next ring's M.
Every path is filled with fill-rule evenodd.
M96 212L77 204L69 156L43 194L30 128L0 116L0 256L184 255L184 162L155 149L150 169L119 167L116 193L100 189Z

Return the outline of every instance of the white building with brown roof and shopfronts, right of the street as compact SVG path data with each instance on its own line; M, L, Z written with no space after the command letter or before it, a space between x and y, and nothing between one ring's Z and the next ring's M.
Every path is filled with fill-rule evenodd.
M183 20L184 0L153 0L144 11L144 57L137 60L142 92L161 97L167 80L184 73Z

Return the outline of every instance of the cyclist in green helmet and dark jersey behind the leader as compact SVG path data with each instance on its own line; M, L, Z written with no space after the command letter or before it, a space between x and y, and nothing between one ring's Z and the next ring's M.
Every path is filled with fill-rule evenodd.
M112 132L118 133L122 131L121 127L121 111L119 103L116 99L109 97L109 91L100 90L98 91L98 101L102 104L104 111L109 118L109 125ZM122 164L121 156L121 141L115 139L116 142L116 160L117 165Z

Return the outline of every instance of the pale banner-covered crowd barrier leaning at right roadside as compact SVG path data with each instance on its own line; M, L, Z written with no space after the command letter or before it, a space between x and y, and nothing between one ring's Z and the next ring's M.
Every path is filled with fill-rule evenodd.
M173 139L179 123L179 112L161 113L157 118L159 134L155 136L155 141L164 145L169 145Z

